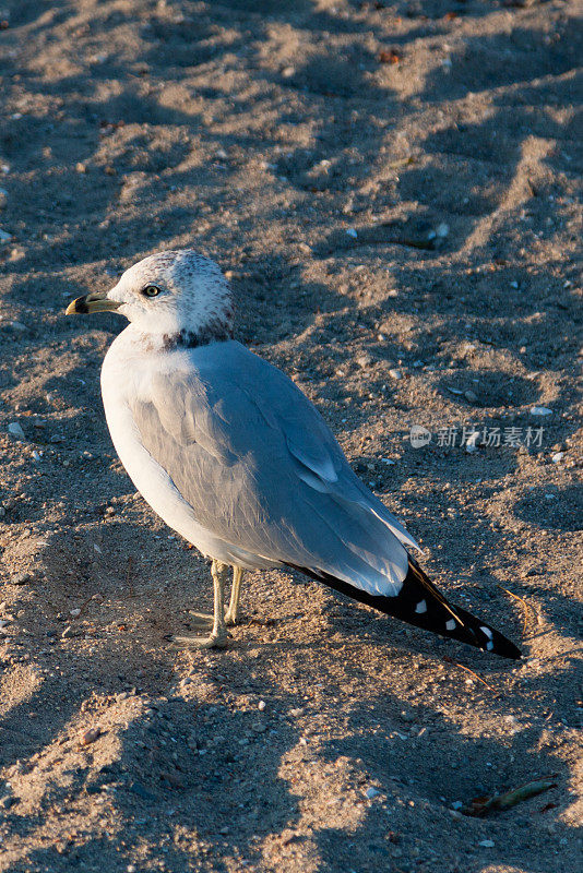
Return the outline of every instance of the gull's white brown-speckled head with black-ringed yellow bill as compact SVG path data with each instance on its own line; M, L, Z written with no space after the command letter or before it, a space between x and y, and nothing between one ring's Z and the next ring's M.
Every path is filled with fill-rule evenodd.
M110 291L78 297L67 308L68 315L91 312L119 312L143 334L192 345L227 339L233 330L227 280L191 249L144 258Z

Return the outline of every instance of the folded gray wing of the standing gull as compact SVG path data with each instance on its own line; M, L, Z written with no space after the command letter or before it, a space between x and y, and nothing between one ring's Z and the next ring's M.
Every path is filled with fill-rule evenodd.
M417 547L362 485L320 414L276 368L235 342L185 352L131 402L145 449L194 517L271 561L397 594L402 541Z

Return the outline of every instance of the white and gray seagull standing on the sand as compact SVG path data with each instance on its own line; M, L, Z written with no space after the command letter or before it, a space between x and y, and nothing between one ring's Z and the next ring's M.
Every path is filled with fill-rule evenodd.
M93 312L129 321L102 368L116 451L152 509L212 561L214 613L193 613L210 634L176 645L224 648L243 572L290 567L409 624L521 657L438 590L411 553L420 547L353 473L316 407L233 338L231 294L214 261L190 249L153 254L67 309Z

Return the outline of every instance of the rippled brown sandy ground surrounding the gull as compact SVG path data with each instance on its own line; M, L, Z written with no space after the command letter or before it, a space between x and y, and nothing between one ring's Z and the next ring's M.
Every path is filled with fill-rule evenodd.
M0 7L0 871L580 870L581 7ZM278 572L168 648L209 567L115 456L120 320L63 309L183 246L523 662Z

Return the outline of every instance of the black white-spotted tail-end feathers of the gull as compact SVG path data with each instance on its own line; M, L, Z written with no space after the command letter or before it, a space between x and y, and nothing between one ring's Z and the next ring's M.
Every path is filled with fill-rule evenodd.
M401 619L408 624L441 636L460 639L462 643L467 643L493 655L501 655L503 658L522 657L521 650L514 643L507 639L499 631L490 627L489 624L477 619L467 610L450 603L411 555L403 587L394 597L369 594L323 571L300 566L295 569L318 582L325 583L336 591L352 597L353 600L367 603L373 609Z

